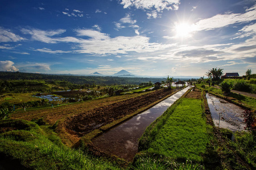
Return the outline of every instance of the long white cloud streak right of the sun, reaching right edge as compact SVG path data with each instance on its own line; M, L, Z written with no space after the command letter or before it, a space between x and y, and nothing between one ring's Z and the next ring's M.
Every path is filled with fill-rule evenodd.
M256 5L243 14L218 14L208 19L201 19L195 24L195 31L210 30L227 25L250 22L256 19Z

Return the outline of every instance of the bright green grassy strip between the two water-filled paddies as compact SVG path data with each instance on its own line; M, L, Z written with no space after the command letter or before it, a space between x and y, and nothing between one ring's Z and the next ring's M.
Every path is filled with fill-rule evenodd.
M201 155L209 142L202 112L201 100L182 99L175 109L167 110L163 121L145 134L148 137L141 138L143 150L176 160L202 162Z

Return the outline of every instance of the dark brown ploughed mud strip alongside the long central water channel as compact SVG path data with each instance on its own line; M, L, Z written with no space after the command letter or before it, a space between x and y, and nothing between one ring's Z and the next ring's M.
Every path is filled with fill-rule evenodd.
M65 128L69 133L82 137L86 133L109 124L115 120L134 113L138 109L158 101L162 97L170 95L174 91L158 90L150 94L134 97L132 99L123 100L104 107L93 109L67 118Z

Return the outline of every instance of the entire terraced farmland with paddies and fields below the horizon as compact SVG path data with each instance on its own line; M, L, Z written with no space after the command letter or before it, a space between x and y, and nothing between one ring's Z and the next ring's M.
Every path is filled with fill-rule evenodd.
M232 79L219 79L214 82L219 84L209 86L210 79L175 84L168 76L152 79L158 80L155 84L110 86L61 82L57 76L49 80L51 75L44 75L46 81L13 79L15 74L40 74L1 74L9 77L1 80L3 169L255 168L256 99L231 91L226 94L222 84ZM253 77L233 82L243 81L253 90ZM12 88L6 91L6 87ZM26 92L13 92L19 89ZM42 99L38 92L59 98ZM26 94L27 100L22 97ZM209 95L241 111L228 107L236 115L224 115L221 103L213 103ZM242 128L234 130L232 125Z

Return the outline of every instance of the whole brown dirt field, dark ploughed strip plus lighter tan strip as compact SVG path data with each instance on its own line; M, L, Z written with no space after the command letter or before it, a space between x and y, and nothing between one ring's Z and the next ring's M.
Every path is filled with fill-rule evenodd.
M49 125L59 121L56 133L59 134L65 145L72 146L86 133L147 107L147 105L171 95L172 92L174 91L162 89L142 94L107 97L56 108L35 111L27 109L26 112L14 112L11 118L31 121L43 117Z

